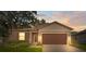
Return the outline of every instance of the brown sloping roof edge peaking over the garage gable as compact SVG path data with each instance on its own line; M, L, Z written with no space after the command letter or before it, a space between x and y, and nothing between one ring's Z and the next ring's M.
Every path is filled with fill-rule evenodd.
M47 26L49 26L49 25L51 25L51 24L58 24L58 25L61 25L61 26L63 26L63 27L65 27L65 28L69 28L69 29L73 29L72 27L69 27L69 26L65 26L65 25L63 25L63 24L61 24L61 23L58 23L58 22L52 22L52 23L46 23L46 24L42 24L42 25L37 25L37 26L35 26L35 30L37 30L37 29L41 29L41 28L44 28L44 27L47 27Z

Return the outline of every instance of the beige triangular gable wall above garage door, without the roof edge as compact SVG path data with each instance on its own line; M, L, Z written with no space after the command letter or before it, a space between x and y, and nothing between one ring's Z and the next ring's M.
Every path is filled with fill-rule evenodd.
M58 24L51 24L47 27L39 29L39 33L67 33L67 31L70 31L70 29Z

